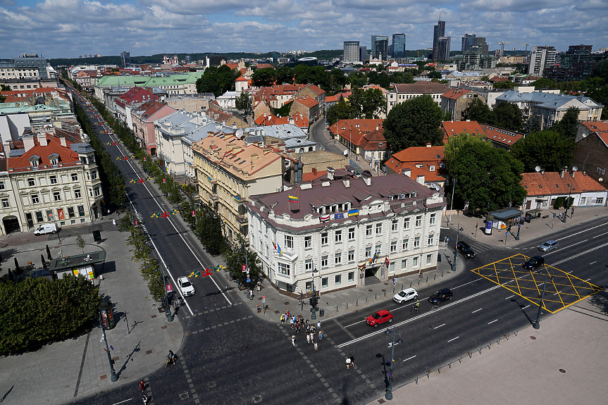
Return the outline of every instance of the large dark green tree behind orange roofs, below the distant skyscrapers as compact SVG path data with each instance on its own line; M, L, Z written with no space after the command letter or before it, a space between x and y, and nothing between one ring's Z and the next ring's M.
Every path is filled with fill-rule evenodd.
M414 97L397 104L384 120L384 137L392 151L442 144L439 127L443 113L431 96Z

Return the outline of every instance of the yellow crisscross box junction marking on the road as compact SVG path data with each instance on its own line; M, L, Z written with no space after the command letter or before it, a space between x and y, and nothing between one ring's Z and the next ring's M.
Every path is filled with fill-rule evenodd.
M526 270L521 265L528 258L530 256L525 254L516 254L471 271L535 305L540 304L542 284L545 282L545 271L548 271L553 278L547 277L542 308L550 313L562 311L562 309L602 291L597 285L559 270L559 268L549 266L547 263L535 270ZM542 270L542 273L540 270ZM559 308L551 311L547 309L548 304L551 304L552 307L557 305Z

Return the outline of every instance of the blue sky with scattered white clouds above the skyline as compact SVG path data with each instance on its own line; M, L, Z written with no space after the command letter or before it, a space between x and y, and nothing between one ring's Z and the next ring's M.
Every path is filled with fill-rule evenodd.
M440 15L452 51L466 32L490 49L608 46L607 0L0 0L0 58L369 49L400 32L424 49Z

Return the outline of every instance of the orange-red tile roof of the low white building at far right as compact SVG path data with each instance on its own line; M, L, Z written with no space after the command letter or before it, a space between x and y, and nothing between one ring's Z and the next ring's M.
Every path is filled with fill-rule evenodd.
M564 173L564 177L559 172L523 173L522 176L521 185L528 192L528 197L604 191L606 189L583 173L575 173L574 177L572 177L572 172Z

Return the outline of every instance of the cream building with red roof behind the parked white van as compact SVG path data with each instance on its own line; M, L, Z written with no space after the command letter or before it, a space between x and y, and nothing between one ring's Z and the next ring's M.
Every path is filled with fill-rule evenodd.
M6 158L0 158L0 235L45 223L90 223L101 216L104 194L89 143L41 133L2 147Z

